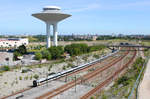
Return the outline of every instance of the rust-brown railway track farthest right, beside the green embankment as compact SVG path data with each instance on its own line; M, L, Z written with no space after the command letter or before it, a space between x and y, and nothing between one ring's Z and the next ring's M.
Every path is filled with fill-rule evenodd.
M110 77L108 77L105 81L103 81L102 83L100 83L98 86L96 86L94 89L92 89L87 94L85 94L84 96L82 96L80 99L88 99L88 98L90 98L90 96L94 95L97 91L100 91L105 85L109 84L113 80L113 78L115 78L126 67L128 67L128 65L133 62L133 60L134 60L135 57L136 57L136 51L134 52L134 55L132 56L132 58L125 65L123 65L120 69L118 69L115 73L113 73L113 75L111 75Z

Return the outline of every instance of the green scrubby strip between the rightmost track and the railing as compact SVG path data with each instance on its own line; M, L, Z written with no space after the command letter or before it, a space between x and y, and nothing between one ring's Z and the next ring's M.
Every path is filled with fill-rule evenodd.
M137 58L132 67L129 68L122 77L115 81L115 84L109 90L104 91L103 94L98 97L102 99L111 99L112 97L114 99L127 99L144 63L144 59L141 57ZM103 98L104 94L106 98Z

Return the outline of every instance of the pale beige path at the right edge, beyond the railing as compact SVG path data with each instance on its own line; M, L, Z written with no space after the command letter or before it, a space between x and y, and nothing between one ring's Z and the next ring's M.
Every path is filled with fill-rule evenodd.
M139 99L150 99L150 59L147 63L143 81L139 86Z

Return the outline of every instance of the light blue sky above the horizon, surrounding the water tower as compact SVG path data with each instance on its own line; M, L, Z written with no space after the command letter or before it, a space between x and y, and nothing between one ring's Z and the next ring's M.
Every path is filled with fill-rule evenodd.
M150 34L149 0L3 0L0 1L0 35L45 35L45 23L31 14L47 5L60 6L72 15L58 25L59 35Z

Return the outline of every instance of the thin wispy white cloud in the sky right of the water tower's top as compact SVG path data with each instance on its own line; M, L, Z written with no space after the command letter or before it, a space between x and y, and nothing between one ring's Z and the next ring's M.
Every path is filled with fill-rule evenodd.
M99 4L89 4L85 7L66 9L64 11L66 11L66 12L83 12L83 11L94 10L94 9L98 9L98 8L100 8Z

